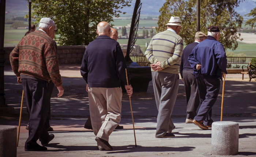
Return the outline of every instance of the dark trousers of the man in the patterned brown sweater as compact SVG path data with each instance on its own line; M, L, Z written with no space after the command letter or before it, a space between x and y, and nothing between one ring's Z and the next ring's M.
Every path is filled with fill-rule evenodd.
M49 111L50 91L49 83L40 79L22 79L22 86L30 113L29 138L25 143L25 148L29 148L37 144L38 139L44 141L49 137L44 124Z

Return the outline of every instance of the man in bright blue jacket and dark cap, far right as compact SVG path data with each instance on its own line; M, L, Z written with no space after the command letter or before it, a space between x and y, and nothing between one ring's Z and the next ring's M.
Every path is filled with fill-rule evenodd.
M188 58L194 69L201 104L192 123L206 130L213 122L211 109L219 94L220 79L227 73L227 56L219 42L221 33L218 26L210 26L207 39L198 44Z

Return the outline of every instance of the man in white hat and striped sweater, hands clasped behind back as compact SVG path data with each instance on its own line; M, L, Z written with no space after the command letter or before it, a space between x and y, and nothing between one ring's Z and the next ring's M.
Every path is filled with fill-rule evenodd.
M183 51L183 40L178 35L180 17L171 17L167 30L155 35L145 52L152 68L155 101L158 109L156 138L174 137L175 128L171 114L179 86L179 68Z

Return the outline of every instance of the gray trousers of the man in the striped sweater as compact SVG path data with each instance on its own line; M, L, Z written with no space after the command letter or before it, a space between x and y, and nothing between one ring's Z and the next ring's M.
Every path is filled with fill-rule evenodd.
M172 132L174 124L171 114L177 98L179 75L166 72L152 72L152 81L157 104L157 131L156 138Z

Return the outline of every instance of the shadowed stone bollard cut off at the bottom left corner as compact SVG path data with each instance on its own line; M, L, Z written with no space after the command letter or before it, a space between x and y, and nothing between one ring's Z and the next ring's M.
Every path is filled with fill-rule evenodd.
M17 156L17 128L0 125L0 157Z

